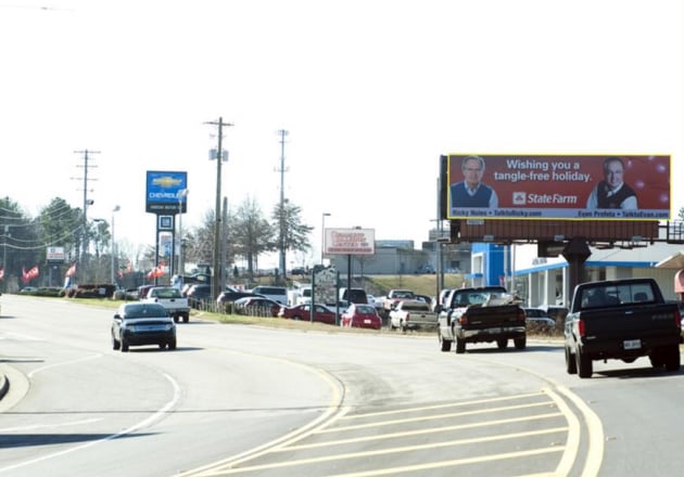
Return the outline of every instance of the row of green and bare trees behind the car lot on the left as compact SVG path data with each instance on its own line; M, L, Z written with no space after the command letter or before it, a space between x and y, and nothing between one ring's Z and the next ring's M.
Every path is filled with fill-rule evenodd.
M301 214L301 207L284 199L266 217L253 197L245 198L236 209L224 210L223 233L219 234L225 250L223 266L231 270L238 260L244 260L246 274L253 278L258 270L258 259L265 254L280 252L284 256L308 252L314 228L302 221ZM183 228L182 236L176 237L183 250L183 261L212 263L215 225L216 214L210 209L199 225ZM155 257L154 245L131 244L125 236L116 236L112 247L111 227L104 219L87 218L81 208L69 206L61 197L50 201L37 217L30 217L10 197L0 198L2 289L8 289L9 281L21 279L23 268L36 265L47 270L34 279L36 284L53 285L61 283L65 270L73 263L77 265L78 282L109 283L113 260L117 275L131 269L142 273L160 259L174 260L174 257ZM48 247L64 248L63 265L48 263ZM54 276L48 276L48 272ZM279 272L284 278L286 271Z

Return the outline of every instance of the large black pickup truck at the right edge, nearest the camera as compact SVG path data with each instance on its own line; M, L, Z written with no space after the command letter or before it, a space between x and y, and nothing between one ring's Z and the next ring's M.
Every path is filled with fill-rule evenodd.
M654 368L677 371L681 320L653 279L580 283L565 323L567 372L591 377L595 360L646 356Z

